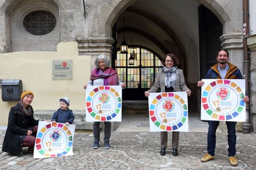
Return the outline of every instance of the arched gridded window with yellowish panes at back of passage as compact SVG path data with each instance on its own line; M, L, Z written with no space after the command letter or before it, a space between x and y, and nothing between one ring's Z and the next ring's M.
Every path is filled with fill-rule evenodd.
M129 65L131 51L136 54L134 64ZM161 59L145 47L128 47L128 54L116 53L115 68L120 81L126 83L123 100L147 100L144 91L150 89L158 70L162 67Z

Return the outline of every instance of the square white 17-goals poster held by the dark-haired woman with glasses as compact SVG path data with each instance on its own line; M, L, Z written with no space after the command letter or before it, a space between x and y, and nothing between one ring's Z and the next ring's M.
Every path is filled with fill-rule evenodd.
M188 132L186 92L150 93L148 108L150 132Z

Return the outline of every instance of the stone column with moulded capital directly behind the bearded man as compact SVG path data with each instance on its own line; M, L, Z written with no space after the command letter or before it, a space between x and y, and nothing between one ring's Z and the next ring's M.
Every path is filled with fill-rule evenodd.
M243 75L243 34L242 33L229 33L220 37L221 47L229 52L229 62L236 65ZM243 122L237 122L237 131L242 132ZM220 128L227 131L224 121L220 122Z

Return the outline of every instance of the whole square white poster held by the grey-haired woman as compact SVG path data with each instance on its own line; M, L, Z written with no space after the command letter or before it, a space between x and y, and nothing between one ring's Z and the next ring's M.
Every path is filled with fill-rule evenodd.
M87 86L86 122L121 121L121 86Z

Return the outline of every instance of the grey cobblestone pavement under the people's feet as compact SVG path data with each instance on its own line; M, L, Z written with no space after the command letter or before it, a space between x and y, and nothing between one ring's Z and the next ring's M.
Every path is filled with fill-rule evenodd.
M5 131L0 130L0 144L4 135ZM32 154L26 154L27 148L19 156L0 151L0 169L256 170L256 134L237 133L237 167L232 167L228 161L226 133L217 133L215 159L201 163L200 159L206 153L206 138L207 133L180 133L178 156L174 157L171 142L166 155L159 154L160 133L114 132L110 138L110 149L103 147L102 139L100 148L93 149L92 134L76 132L72 156L33 159Z

